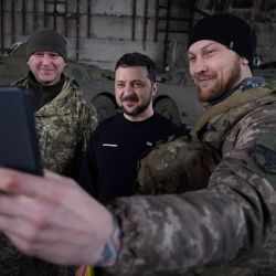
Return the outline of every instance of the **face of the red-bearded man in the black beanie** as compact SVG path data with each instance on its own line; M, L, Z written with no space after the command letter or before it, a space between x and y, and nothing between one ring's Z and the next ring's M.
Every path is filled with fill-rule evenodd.
M188 51L189 70L201 102L220 98L242 81L242 57L221 43L201 40Z

